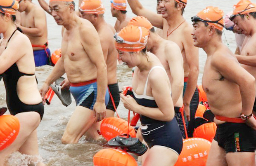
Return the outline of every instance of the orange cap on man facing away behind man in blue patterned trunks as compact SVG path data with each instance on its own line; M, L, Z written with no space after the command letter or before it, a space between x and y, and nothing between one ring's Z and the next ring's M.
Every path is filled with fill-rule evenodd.
M97 14L104 14L105 8L101 2L101 0L83 0L79 10L85 13L97 13Z

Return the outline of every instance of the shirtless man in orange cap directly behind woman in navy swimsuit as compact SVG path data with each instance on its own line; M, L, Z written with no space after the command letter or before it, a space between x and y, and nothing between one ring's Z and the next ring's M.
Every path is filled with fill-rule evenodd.
M175 42L161 38L152 24L143 16L133 17L128 23L129 25L141 26L150 31L150 36L147 40L147 51L156 55L161 61L171 82L173 105L182 107L184 70L180 48Z

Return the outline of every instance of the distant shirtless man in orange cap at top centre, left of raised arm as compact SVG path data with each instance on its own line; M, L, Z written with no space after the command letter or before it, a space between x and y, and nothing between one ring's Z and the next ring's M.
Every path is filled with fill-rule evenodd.
M111 0L111 14L116 17L116 24L114 26L116 32L127 26L130 17L127 16L126 0Z

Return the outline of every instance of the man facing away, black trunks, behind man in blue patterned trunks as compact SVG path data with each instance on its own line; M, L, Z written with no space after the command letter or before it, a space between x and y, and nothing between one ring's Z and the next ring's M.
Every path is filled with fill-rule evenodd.
M93 10L91 6L98 8L99 11ZM117 108L120 101L120 95L116 77L116 55L118 52L113 38L116 30L105 21L105 8L103 7L101 0L83 0L79 11L81 12L81 18L90 21L100 36L100 44L107 64L109 93L114 99L115 108ZM109 100L106 117L114 117L115 108L112 101Z

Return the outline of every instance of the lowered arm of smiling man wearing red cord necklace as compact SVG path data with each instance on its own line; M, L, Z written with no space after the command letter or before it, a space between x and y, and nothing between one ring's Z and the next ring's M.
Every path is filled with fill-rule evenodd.
M187 63L189 65L190 71L187 79L187 88L183 97L184 106L189 106L190 101L194 95L194 91L197 87L197 79L199 75L199 49L194 47L193 39L190 35L192 29L187 28L185 30L183 42Z

